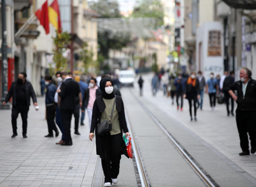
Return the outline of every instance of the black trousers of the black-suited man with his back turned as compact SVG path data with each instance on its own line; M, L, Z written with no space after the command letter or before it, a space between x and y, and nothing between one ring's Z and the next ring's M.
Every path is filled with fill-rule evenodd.
M71 126L71 118L72 118L73 112L74 110L60 110L66 142L72 141L70 126Z

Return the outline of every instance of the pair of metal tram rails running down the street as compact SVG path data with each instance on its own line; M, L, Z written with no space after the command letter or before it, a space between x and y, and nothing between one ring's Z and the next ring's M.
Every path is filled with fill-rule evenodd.
M160 121L154 116L154 114L144 105L142 101L140 101L134 93L130 90L131 95L137 100L137 102L141 105L144 111L150 116L150 118L154 121L155 124L165 133L170 142L173 144L175 149L181 154L184 160L189 164L191 169L197 174L197 176L201 179L201 181L209 187L219 187L219 185L214 181L214 179L200 166L200 164L187 152L187 150L172 136L170 132L163 126ZM127 125L129 128L129 132L131 132L132 136L132 147L133 147L133 155L136 158L136 166L138 168L139 173L141 173L140 178L137 178L138 186L151 186L150 179L147 176L146 167L144 165L142 155L140 153L139 145L136 140L135 133L133 132L131 125L129 123L129 117L127 117ZM135 164L134 164L135 166ZM136 170L136 168L134 168Z

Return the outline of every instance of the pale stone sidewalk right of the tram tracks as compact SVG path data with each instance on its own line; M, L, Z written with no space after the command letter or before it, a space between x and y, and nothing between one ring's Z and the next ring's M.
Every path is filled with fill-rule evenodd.
M241 152L239 134L236 126L235 116L227 117L226 105L216 104L216 111L211 111L209 96L204 94L203 110L198 110L198 121L190 121L188 101L183 100L183 111L177 111L176 98L174 105L170 97L163 96L160 90L156 97L152 96L151 79L153 74L143 75L144 98L152 104L160 107L163 113L178 120L186 128L194 132L205 142L216 148L228 159L236 163L243 170L256 178L256 155L239 156ZM134 87L134 93L139 96L138 80ZM235 107L236 109L236 103ZM193 109L194 114L194 109Z

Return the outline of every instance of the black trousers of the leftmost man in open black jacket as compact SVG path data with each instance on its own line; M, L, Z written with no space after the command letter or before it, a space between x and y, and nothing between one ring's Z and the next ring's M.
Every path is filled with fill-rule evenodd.
M17 105L12 107L12 131L13 133L17 133L17 118L20 113L22 117L22 133L27 134L27 126L28 126L28 111L29 106L27 105Z

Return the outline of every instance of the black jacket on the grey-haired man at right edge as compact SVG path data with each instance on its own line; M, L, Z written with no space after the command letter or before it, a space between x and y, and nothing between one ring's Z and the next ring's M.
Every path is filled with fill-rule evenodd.
M228 87L229 90L237 90L237 109L245 111L256 110L256 81L249 80L245 95L243 96L242 81L237 81Z

